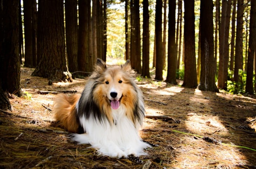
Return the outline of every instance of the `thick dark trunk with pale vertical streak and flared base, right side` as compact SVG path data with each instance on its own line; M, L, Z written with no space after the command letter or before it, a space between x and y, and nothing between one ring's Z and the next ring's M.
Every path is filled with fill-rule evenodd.
M213 1L200 3L201 30L201 73L199 90L218 92L215 84L214 41L213 41Z

